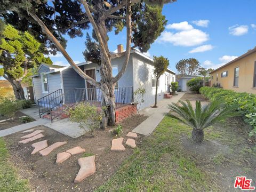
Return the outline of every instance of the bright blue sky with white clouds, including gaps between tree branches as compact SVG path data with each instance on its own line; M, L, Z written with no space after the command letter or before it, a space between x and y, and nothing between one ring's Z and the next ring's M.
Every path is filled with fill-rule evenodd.
M169 68L181 59L195 58L202 67L218 68L256 46L256 0L177 0L163 7L165 30L146 53L169 59ZM89 30L89 33L91 29ZM67 52L76 62L84 62L85 35L68 40ZM126 31L109 33L109 50L125 47ZM55 65L67 66L61 53L50 57Z

